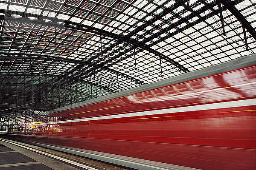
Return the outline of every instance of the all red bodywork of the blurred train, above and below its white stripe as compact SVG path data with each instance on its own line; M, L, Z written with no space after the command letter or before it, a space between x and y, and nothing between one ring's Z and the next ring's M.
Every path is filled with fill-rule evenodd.
M251 65L50 115L80 119L242 102L255 99L255 83L256 65ZM55 136L27 138L207 170L256 169L256 105L56 125Z

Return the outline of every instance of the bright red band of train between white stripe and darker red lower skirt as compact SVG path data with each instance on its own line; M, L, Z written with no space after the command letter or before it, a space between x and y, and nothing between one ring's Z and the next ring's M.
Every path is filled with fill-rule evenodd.
M157 119L148 119L152 118L151 115L148 115L68 122L56 124L62 131L57 135L255 148L256 126L253 123L256 116L255 109L254 105L177 113L179 115L174 115L175 113L154 115L158 117ZM247 119L247 117L251 117L251 119ZM217 129L212 125L214 119L221 119L221 124L218 122L220 125L217 126ZM183 123L177 122L178 120ZM228 128L226 127L227 123L229 124ZM204 127L205 125L209 127ZM200 130L200 133L195 133L195 130ZM73 132L76 132L75 135ZM207 136L214 136L214 138Z

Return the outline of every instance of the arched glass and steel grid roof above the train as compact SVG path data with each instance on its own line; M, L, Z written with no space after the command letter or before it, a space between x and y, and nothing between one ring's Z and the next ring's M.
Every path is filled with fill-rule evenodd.
M0 0L1 94L84 101L254 54L255 28L256 0Z

